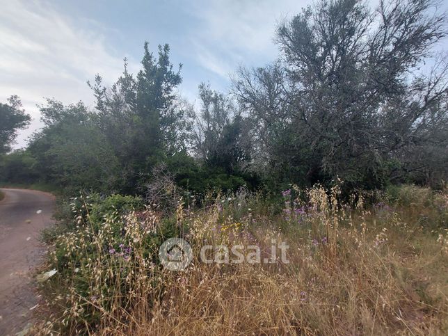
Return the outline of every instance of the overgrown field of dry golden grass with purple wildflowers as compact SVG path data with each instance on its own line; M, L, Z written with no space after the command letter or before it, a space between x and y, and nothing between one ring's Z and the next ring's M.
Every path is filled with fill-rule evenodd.
M446 335L448 194L294 186L278 197L240 191L179 202L175 214L139 198L71 204L47 232L36 333L97 335ZM66 215L67 217L67 215ZM184 271L161 266L170 237L191 244ZM271 245L285 242L287 260ZM200 261L205 244L259 246L269 264ZM222 255L221 255L222 257ZM221 259L222 261L223 259Z

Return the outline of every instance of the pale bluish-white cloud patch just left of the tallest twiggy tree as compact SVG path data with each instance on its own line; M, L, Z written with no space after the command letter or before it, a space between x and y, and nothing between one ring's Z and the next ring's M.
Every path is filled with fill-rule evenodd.
M228 77L229 70L239 63L273 61L278 54L273 43L278 22L296 15L310 2L195 1L190 12L198 20L198 29L191 33L191 40L198 61L222 77Z

